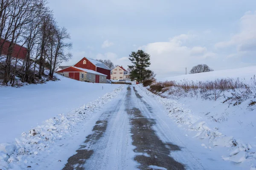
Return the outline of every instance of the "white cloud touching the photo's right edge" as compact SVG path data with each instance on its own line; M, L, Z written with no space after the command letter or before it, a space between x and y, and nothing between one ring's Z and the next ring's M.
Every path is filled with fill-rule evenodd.
M233 35L230 40L222 41L215 44L216 48L227 48L236 46L238 51L252 50L252 42L256 41L256 11L247 12L240 19L240 31ZM254 46L254 49L256 46Z

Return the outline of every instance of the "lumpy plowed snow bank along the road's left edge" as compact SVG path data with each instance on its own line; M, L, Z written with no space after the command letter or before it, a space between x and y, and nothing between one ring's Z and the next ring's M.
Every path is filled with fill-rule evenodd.
M89 114L104 107L123 87L119 86L70 113L47 119L42 125L23 132L16 138L16 142L0 144L0 170L20 170L20 164L27 164L30 157L36 157L40 152L48 150L56 141L68 139L72 133L76 133L73 131L75 125L83 123Z

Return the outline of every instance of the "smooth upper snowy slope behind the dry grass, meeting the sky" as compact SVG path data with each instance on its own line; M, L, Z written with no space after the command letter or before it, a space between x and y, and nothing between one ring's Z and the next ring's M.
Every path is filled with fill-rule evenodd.
M229 70L220 70L220 71L211 71L206 73L198 73L198 74L187 74L182 76L175 77L166 77L159 79L159 81L181 81L184 79L193 80L193 81L207 81L212 79L221 79L221 78L233 78L233 79L245 79L246 82L250 82L250 78L256 74L256 66L244 67L244 68L236 68Z

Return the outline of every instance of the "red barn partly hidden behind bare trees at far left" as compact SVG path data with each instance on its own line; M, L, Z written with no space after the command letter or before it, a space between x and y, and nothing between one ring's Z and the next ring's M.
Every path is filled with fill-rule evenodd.
M7 55L10 42L9 41L4 42L3 39L0 39L0 44L3 44L3 50L1 55ZM28 50L25 47L15 44L11 56L18 59L25 59L27 51Z

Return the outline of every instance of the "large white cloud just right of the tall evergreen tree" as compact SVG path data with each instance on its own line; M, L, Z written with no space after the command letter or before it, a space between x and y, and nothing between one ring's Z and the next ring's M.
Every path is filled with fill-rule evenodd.
M166 73L170 71L183 71L185 67L209 62L216 58L216 54L207 51L206 47L188 47L187 40L196 37L193 34L181 34L170 38L169 42L154 42L141 47L151 55L150 68L155 73Z

